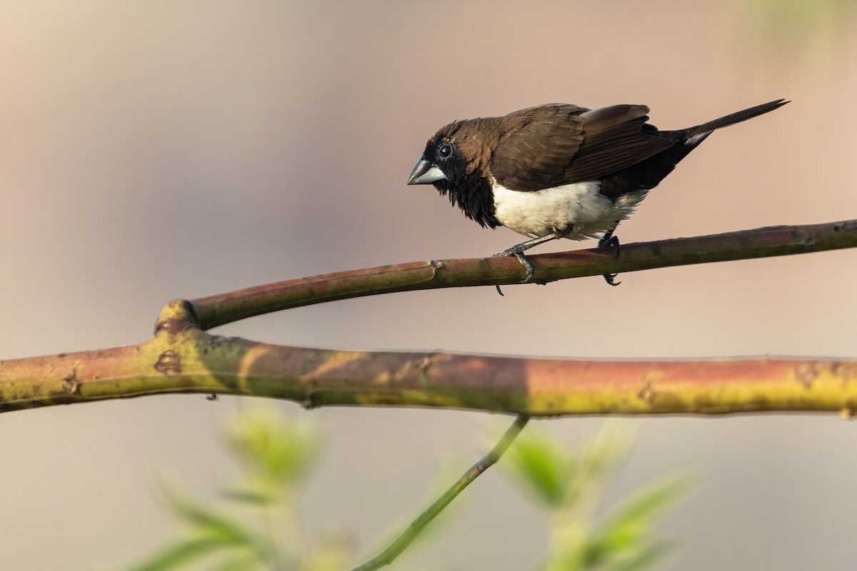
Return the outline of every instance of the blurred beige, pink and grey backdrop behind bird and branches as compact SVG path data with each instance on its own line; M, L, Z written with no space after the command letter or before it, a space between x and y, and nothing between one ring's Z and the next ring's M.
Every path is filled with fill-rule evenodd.
M857 217L853 2L361 3L0 0L0 359L139 342L159 308L234 288L520 241L405 180L436 128L533 104L647 104L724 129L620 226L622 241ZM585 244L591 247L593 244ZM551 243L538 251L571 249ZM328 348L644 358L854 357L857 252L347 300L217 332ZM581 300L584 300L583 302ZM3 567L110 569L175 532L157 499L236 471L246 401L158 396L0 415ZM305 412L326 434L309 533L358 559L511 418ZM569 444L603 419L539 421ZM623 420L619 497L685 468L668 568L850 568L855 426L834 415ZM486 473L397 568L526 569L542 512Z

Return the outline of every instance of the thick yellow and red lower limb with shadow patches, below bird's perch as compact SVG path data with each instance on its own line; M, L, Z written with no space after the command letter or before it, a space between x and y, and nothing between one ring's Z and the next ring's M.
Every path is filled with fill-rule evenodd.
M212 336L186 301L129 347L0 361L0 410L166 393L304 407L451 407L532 415L857 410L857 360L553 360L333 351Z

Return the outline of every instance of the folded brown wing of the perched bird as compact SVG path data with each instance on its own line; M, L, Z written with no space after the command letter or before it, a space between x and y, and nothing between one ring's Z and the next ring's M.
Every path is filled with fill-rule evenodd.
M644 105L533 114L532 120L500 142L491 172L506 188L535 191L572 182L595 181L673 146L644 123ZM573 108L579 110L580 108Z

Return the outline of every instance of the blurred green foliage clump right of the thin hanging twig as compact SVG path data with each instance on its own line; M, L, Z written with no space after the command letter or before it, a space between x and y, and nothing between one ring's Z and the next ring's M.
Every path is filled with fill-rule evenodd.
M596 522L602 488L630 443L626 434L608 427L584 443L578 455L536 430L512 444L503 465L550 511L550 546L539 569L640 571L668 554L669 545L653 530L686 491L683 478L650 485Z

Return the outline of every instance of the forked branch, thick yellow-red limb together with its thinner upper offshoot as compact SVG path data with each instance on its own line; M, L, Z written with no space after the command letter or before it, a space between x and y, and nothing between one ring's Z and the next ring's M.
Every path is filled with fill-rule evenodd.
M532 256L536 279L857 246L857 221ZM165 393L268 396L304 407L454 407L531 415L857 410L857 360L548 360L282 347L204 330L252 315L407 289L516 283L516 259L385 266L175 300L120 348L0 361L0 411Z

